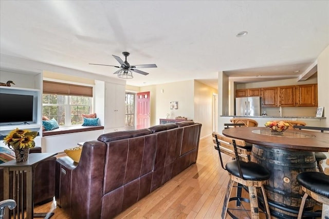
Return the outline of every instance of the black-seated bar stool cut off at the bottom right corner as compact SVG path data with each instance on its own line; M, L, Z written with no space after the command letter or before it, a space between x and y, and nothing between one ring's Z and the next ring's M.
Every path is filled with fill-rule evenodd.
M306 198L309 195L322 203L322 217L329 217L329 175L321 172L303 172L297 176L297 182L305 192L299 208L298 219L302 218ZM326 214L325 214L326 213Z

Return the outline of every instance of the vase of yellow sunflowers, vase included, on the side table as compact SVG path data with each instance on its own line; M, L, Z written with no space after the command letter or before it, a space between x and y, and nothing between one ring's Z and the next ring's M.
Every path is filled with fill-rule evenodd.
M4 138L5 145L14 149L16 162L28 160L29 150L35 146L34 138L36 135L38 135L37 131L16 128Z

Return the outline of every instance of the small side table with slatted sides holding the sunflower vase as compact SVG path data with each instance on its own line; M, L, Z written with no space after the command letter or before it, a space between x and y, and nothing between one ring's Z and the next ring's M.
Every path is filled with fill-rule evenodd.
M22 218L24 217L24 203L23 203L23 185L26 183L26 218L32 219L33 208L34 208L34 169L36 165L38 165L41 161L56 155L57 153L30 153L29 158L26 162L16 162L16 160L12 160L1 164L0 167L4 168L4 200L10 198L9 197L9 188L12 186L14 199L17 203L15 212L17 214L22 214ZM13 172L12 185L10 182L9 173ZM24 182L24 172L26 172L26 182ZM20 184L22 188L20 188ZM38 217L42 216L40 213ZM5 211L5 219L10 218L9 209L7 208Z

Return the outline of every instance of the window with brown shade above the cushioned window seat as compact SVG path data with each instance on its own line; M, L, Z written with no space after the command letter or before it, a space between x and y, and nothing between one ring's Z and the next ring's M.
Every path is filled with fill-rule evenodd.
M80 125L81 114L91 113L93 87L48 81L43 85L42 115L54 118L60 126Z

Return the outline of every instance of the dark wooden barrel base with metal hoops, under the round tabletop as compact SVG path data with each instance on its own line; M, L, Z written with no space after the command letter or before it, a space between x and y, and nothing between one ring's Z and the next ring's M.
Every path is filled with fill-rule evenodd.
M271 216L297 218L303 191L296 177L301 172L316 171L314 152L296 152L253 145L251 161L263 165L271 173L271 177L264 185ZM305 211L312 211L314 205L312 200L307 200ZM310 215L313 215L313 212Z

